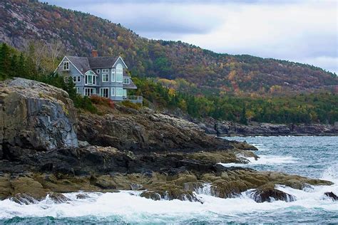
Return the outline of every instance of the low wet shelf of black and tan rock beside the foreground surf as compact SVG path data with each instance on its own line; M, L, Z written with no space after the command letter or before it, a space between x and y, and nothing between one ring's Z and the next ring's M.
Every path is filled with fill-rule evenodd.
M210 194L215 197L235 197L248 189L257 189L255 201L265 202L271 198L283 201L292 199L270 188L275 184L295 184L293 187L297 189L308 184L332 184L278 172L222 167L215 162L217 157L240 162L233 152L227 151L133 155L132 152L121 152L113 147L91 146L86 149L37 152L34 156L23 158L26 163L24 173L18 172L23 162L1 162L0 170L4 174L0 176L0 197L5 199L26 194L33 199L43 199L51 192L113 192L122 189L145 190L141 196L150 199L160 196L161 199L198 201L193 192L203 184L210 184ZM53 164L48 167L49 170L43 167L46 162Z

